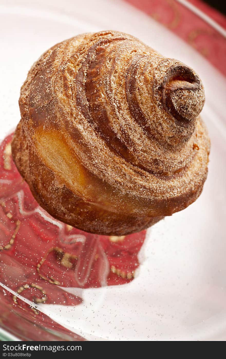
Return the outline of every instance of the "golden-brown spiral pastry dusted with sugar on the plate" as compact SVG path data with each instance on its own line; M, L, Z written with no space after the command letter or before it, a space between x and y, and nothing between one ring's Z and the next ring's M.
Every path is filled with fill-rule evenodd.
M138 232L201 194L210 148L203 85L128 34L45 52L20 93L12 154L38 203L87 232Z

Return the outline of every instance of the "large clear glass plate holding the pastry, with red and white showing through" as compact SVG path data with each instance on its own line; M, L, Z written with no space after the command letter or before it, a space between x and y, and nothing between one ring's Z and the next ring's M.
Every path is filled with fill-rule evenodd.
M15 171L7 137L0 158L2 171L9 171L9 195L1 204L0 338L225 340L225 78L121 1L1 1L0 19L1 140L20 120L19 90L40 54L78 33L109 28L131 33L198 72L211 137L208 178L198 200L126 238L93 236L48 216ZM84 263L90 267L81 279Z

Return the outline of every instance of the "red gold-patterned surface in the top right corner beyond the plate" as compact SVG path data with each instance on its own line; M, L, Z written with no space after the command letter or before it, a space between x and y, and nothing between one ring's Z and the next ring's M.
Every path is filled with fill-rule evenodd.
M124 0L189 43L226 75L225 37L201 16L176 0ZM226 28L226 17L200 0L187 1ZM158 36L158 34L157 34ZM172 44L172 46L174 46Z

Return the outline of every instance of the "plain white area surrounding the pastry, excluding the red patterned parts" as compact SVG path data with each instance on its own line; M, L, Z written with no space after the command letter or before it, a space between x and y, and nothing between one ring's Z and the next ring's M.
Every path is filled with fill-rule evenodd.
M226 83L191 47L121 1L0 2L1 139L20 120L18 98L42 52L78 33L115 29L140 38L201 76L211 137L209 174L199 199L148 231L136 278L124 286L71 289L76 307L40 309L90 340L226 339ZM59 308L60 307L60 308ZM61 309L61 311L59 311Z

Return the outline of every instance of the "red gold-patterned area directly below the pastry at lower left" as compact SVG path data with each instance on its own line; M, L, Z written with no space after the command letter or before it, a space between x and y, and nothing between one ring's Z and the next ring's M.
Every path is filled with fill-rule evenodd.
M1 283L34 303L76 306L82 298L63 287L97 288L133 280L145 231L99 236L54 219L17 171L12 136L0 146ZM2 287L0 312L0 326L20 339L82 340Z

